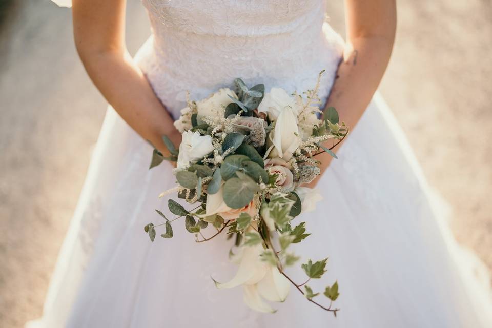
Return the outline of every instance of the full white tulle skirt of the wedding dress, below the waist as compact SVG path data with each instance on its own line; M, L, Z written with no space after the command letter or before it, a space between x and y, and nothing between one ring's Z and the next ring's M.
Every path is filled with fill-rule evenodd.
M316 211L295 219L313 233L297 255L329 256L310 286L338 280L336 318L295 289L275 314L248 309L240 288L217 290L211 277L236 270L225 235L197 244L178 220L173 239L152 243L144 226L161 223L155 209L172 216L158 195L175 179L169 163L148 169L151 153L110 107L43 317L29 328L492 326L486 270L456 244L445 203L379 94L322 176ZM290 274L304 279L300 265Z

